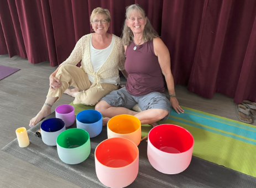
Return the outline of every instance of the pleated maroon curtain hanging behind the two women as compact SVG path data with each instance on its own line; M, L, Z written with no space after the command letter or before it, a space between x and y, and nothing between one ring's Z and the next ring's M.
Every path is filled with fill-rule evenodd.
M125 8L138 3L171 55L175 84L205 98L222 93L256 101L256 1L1 0L0 54L57 66L91 33L90 14L109 9L121 36Z

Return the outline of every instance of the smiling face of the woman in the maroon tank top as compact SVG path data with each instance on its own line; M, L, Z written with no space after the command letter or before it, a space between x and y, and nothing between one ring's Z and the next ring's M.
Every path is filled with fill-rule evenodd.
M147 17L143 18L138 10L133 10L129 15L129 19L126 20L126 24L133 31L133 34L141 34L147 24Z

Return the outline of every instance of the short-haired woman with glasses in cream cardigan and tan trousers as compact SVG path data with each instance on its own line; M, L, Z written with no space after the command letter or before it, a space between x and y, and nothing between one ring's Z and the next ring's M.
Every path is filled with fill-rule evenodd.
M50 89L40 112L29 122L33 127L51 114L51 106L62 93L75 97L74 104L95 105L119 87L119 70L124 70L125 55L121 38L107 33L108 9L96 8L90 22L95 33L82 36L69 58L50 76ZM81 61L81 67L76 67ZM70 86L75 89L69 89Z

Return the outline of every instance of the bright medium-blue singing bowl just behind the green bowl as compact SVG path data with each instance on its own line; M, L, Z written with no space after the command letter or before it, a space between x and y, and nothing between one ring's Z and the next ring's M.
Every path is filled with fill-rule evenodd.
M100 135L102 115L97 110L83 110L76 116L76 127L89 133L90 138Z

